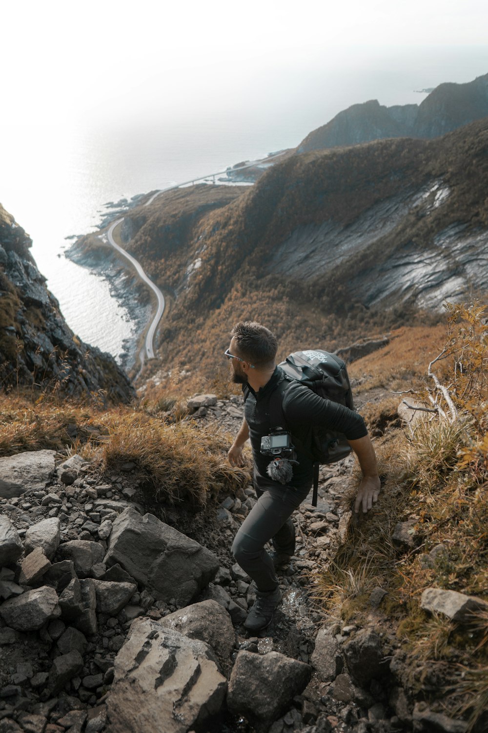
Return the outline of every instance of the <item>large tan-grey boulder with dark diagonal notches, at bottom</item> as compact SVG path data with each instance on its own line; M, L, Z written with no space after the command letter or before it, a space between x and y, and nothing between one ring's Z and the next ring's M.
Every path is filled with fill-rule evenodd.
M208 644L138 619L114 660L108 730L187 733L219 712L226 690Z

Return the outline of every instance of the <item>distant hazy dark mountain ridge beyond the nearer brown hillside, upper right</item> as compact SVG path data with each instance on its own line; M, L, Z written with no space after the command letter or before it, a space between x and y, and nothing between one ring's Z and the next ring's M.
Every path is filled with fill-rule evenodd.
M313 130L298 152L356 145L383 138L434 138L488 116L488 74L468 84L440 84L420 104L355 104Z

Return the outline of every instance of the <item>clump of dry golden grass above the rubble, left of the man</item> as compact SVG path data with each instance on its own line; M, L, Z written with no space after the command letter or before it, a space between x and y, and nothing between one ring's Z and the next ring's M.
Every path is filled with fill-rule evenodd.
M123 410L109 416L107 427L105 465L134 461L156 501L202 508L219 490L232 493L249 483L248 471L229 465L229 442L218 433Z

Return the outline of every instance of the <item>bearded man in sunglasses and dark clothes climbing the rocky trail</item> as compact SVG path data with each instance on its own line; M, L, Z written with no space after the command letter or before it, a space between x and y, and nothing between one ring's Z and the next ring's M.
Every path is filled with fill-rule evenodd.
M256 600L244 626L259 631L271 622L275 608L282 600L275 566L290 559L295 550L295 528L290 519L312 487L313 461L306 452L296 449L292 462L293 475L284 485L272 479L269 464L272 458L261 452L261 439L270 435L270 397L285 378L276 365L277 339L268 328L254 321L241 321L231 331L232 339L225 356L231 362L232 380L245 390L244 420L228 452L230 465L244 465L242 450L250 438L254 460L254 487L258 501L236 534L232 546L236 561L255 581ZM311 425L342 432L359 460L361 479L354 511L372 508L380 493L380 479L375 450L362 417L336 402L318 397L303 387L285 391L282 402L286 427L305 439ZM293 437L291 438L293 441ZM272 540L274 553L264 545Z

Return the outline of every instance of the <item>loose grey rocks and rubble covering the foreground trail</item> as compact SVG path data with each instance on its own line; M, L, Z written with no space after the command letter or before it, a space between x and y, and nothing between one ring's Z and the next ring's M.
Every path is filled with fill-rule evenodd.
M240 424L237 398L200 405L203 427ZM229 552L251 487L203 516L159 519L144 513L131 464L108 476L52 451L0 459L0 730L465 733L411 696L382 589L362 627L314 604L312 574L348 531L348 460L323 468L318 507L296 512L284 600L253 637L242 626L252 585ZM411 537L400 529L401 549ZM444 614L450 603L424 608Z

